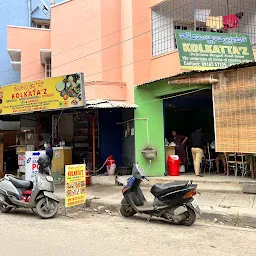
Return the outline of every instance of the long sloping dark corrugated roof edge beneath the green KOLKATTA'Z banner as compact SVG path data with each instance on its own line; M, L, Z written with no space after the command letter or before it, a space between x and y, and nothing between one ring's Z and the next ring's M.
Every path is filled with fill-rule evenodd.
M189 72L183 72L183 73L179 73L177 75L174 75L174 76L167 76L167 77L163 77L163 78L160 78L160 79L157 79L157 80L152 80L152 81L148 81L144 84L139 84L139 85L136 85L136 87L139 87L139 86L143 86L143 85L147 85L147 84L150 84L150 83L154 83L154 82L158 82L158 81L162 81L162 80L165 80L165 79L171 79L171 78L178 78L178 77L187 77L187 76L194 76L194 75L197 75L197 74L201 74L201 73L207 73L207 72L219 72L219 71L224 71L224 70L231 70L231 69L238 69L238 68L247 68L247 67L254 67L256 66L256 62L253 61L253 62L249 62L249 63L242 63L242 64L237 64L237 65L233 65L233 66L229 66L227 68L222 68L222 69L213 69L213 70L194 70L194 71L189 71Z

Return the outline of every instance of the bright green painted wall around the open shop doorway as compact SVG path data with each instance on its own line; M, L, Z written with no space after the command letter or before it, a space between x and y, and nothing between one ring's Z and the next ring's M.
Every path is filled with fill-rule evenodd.
M135 87L134 99L138 105L134 116L136 162L147 170L149 162L141 153L148 146L147 121L138 120L140 118L148 119L149 146L158 152L157 158L152 160L148 176L163 176L165 172L163 100L159 97L202 88L209 86L168 85L167 79Z

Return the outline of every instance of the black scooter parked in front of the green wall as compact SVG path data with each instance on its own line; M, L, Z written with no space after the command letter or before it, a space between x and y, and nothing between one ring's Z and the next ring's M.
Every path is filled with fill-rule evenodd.
M201 214L196 195L197 185L192 181L155 184L151 188L154 201L148 202L140 188L142 180L149 181L144 170L136 164L132 177L122 189L124 198L121 202L120 213L124 217L131 217L136 213L143 213L167 219L171 223L191 226ZM149 219L150 219L149 218Z

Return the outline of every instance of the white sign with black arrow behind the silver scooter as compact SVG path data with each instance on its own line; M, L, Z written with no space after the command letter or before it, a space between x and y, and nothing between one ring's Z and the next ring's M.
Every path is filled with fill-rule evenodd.
M45 151L26 151L25 152L25 179L32 182L36 181L36 175L39 171L38 158L45 155Z

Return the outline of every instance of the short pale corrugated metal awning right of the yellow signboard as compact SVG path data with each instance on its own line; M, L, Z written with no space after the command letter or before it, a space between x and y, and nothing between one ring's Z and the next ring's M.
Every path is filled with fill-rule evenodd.
M117 100L87 100L86 108L137 108L138 105L132 104L128 101Z

